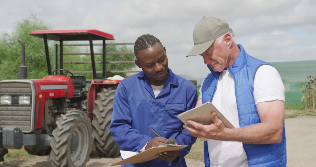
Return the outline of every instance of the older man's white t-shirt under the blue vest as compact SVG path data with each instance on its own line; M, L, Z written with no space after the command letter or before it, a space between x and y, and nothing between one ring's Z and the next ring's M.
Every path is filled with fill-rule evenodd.
M276 69L270 65L262 65L258 68L253 87L256 104L272 100L284 101L285 99L282 79ZM202 86L199 98L202 98L201 92ZM239 127L235 83L228 70L223 70L220 74L212 104L235 128ZM210 166L248 166L246 152L241 142L208 139L207 144Z

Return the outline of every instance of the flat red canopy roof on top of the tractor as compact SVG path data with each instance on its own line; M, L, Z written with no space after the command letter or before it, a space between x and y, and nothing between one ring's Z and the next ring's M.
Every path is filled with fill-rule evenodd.
M91 34L93 40L114 40L112 34L108 34L96 29L88 30L37 30L32 31L30 35L44 38L47 35L48 40L89 40Z

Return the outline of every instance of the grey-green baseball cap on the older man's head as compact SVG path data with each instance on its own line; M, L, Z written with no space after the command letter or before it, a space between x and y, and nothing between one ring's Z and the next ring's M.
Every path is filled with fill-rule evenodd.
M195 56L205 52L214 40L229 30L228 23L215 17L203 17L197 22L193 30L194 46L186 55Z

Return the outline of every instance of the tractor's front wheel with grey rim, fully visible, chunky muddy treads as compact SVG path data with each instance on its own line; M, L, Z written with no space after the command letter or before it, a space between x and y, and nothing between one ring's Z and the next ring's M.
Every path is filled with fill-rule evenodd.
M92 127L87 114L67 111L56 121L51 142L53 167L85 167L92 151Z

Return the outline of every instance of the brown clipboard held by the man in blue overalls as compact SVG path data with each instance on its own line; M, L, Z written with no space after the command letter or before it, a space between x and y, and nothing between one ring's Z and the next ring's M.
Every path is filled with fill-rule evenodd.
M137 163L143 163L150 160L153 160L156 157L156 154L161 152L167 152L167 151L178 151L182 148L187 147L187 145L174 145L174 146L162 146L162 147L153 147L149 148L143 152L140 152L134 156L131 156L129 158L123 159L117 163L111 164L111 166L115 165L125 165L125 164L137 164Z

